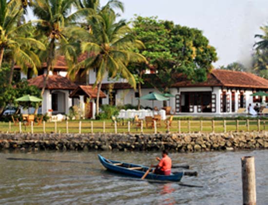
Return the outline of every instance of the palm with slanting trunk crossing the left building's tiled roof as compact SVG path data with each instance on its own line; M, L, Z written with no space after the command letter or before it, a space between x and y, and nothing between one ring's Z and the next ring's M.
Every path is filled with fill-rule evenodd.
M38 31L46 36L47 51L45 60L47 63L47 75L41 91L43 95L48 79L48 74L53 70L53 62L57 57L56 48L64 48L67 62L73 60L75 52L68 42L68 23L79 17L83 9L70 14L74 0L34 0L31 3L34 14L38 17ZM71 28L71 26L70 26ZM72 55L70 55L70 53Z

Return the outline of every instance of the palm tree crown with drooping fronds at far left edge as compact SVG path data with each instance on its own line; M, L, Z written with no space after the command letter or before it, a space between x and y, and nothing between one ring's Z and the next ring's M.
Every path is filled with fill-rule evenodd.
M33 37L24 36L24 32L29 29L31 23L19 23L22 15L23 8L20 2L0 0L0 69L4 53L6 53L12 59L11 77L15 63L24 70L30 66L36 73L36 64L39 65L39 60L30 48L45 49L40 41Z

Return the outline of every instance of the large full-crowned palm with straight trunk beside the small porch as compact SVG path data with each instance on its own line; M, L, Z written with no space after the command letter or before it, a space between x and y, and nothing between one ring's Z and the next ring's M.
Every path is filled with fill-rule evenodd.
M81 29L79 34L83 40L81 52L87 52L89 57L75 65L69 71L69 76L74 77L81 68L85 72L89 69L97 69L96 82L96 115L99 113L99 93L101 82L108 74L111 78L120 76L128 80L135 88L134 76L130 73L127 66L129 62L146 62L144 56L134 53L134 48L143 47L141 41L135 40L130 35L130 27L125 20L116 22L116 14L111 7L103 7L96 18L89 20L92 32Z

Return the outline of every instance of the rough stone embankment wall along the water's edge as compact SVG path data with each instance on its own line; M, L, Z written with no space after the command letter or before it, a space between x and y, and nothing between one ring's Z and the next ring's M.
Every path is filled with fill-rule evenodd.
M185 134L5 134L1 149L21 150L119 150L168 149L196 152L233 149L267 149L268 132Z

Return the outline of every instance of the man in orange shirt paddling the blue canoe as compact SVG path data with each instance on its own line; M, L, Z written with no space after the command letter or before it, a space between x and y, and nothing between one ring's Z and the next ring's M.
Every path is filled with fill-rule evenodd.
M153 173L161 174L161 175L170 175L171 174L171 167L172 161L171 158L168 156L168 152L166 150L162 151L162 159L156 157L156 160L160 161L158 165L154 166L155 169Z

